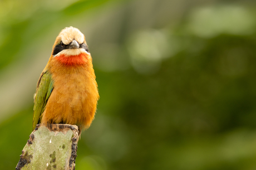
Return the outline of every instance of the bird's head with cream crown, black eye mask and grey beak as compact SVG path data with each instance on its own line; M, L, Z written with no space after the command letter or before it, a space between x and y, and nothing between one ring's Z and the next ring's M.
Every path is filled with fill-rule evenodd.
M74 27L62 29L53 45L53 58L72 58L79 55L90 56L85 35Z

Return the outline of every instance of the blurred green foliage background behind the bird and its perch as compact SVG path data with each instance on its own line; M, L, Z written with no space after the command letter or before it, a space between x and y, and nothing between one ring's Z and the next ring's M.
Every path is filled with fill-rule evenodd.
M0 169L14 169L61 29L99 84L76 169L256 169L256 1L1 0Z

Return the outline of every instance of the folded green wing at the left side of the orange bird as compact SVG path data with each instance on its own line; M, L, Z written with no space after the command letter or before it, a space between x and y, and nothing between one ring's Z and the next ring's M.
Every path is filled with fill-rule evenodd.
M37 83L37 90L34 97L34 114L33 114L33 126L32 131L36 128L36 125L41 122L42 113L45 110L47 101L53 90L52 75L49 71L45 71L41 74Z

